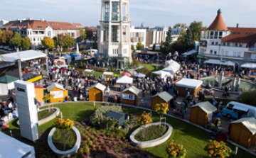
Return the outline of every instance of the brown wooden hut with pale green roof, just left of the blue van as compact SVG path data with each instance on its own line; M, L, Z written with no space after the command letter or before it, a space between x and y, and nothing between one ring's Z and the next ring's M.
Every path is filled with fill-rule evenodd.
M213 118L214 111L217 111L217 108L209 101L198 103L195 106L191 106L189 121L205 126Z

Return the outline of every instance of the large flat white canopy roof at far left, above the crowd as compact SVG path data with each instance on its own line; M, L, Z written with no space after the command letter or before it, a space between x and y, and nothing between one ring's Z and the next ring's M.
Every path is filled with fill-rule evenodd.
M26 50L21 52L13 52L13 53L0 55L0 61L15 62L20 59L21 61L27 61L27 60L38 59L40 57L46 57L46 54L43 52L38 52L36 50Z

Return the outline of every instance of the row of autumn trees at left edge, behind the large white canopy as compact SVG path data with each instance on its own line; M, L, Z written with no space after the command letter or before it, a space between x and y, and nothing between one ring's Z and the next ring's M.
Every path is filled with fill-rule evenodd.
M22 47L23 50L28 50L32 43L30 38L21 38L17 32L14 34L11 30L0 30L0 45L11 45L11 47Z

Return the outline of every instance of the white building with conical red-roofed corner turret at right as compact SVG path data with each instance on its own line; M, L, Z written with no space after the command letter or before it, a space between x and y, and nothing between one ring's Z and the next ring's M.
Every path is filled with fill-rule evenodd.
M207 28L202 30L199 54L206 59L235 62L236 69L245 62L256 61L256 28L227 27L218 14Z

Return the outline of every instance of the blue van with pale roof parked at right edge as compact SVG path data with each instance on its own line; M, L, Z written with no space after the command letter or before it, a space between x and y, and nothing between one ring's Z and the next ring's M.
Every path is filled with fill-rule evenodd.
M223 115L227 118L256 118L256 107L249 106L245 103L238 103L236 101L231 101L223 109Z

